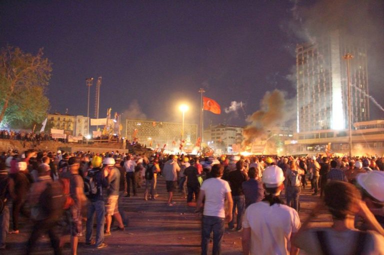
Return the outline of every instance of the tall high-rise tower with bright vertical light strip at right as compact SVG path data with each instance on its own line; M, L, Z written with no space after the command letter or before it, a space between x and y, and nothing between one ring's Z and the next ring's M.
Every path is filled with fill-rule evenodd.
M296 46L297 133L348 127L346 53L352 124L369 119L367 55L363 40L333 31Z

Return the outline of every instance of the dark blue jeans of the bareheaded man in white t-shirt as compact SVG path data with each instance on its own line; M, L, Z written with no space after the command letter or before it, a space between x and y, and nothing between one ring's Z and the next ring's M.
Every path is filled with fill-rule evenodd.
M224 218L215 216L202 216L201 227L201 255L208 254L210 233L213 231L212 255L221 254L221 241L224 236Z

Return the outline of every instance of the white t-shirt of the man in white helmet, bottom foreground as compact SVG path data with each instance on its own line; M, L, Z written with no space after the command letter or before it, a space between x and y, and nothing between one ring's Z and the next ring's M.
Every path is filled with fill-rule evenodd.
M300 219L286 205L258 202L245 210L242 227L251 229L250 254L283 255L289 254L287 244L300 228Z

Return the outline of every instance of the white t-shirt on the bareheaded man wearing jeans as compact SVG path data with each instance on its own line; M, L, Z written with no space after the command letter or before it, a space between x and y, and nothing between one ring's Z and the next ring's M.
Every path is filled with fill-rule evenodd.
M225 194L230 192L228 182L220 178L209 178L202 183L200 190L205 192L203 215L225 218Z

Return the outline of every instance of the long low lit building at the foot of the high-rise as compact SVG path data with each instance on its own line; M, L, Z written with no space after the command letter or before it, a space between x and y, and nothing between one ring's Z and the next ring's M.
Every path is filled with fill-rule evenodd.
M352 155L371 156L384 153L384 120L356 122L352 130ZM348 130L318 130L293 134L286 140L284 154L349 153Z

